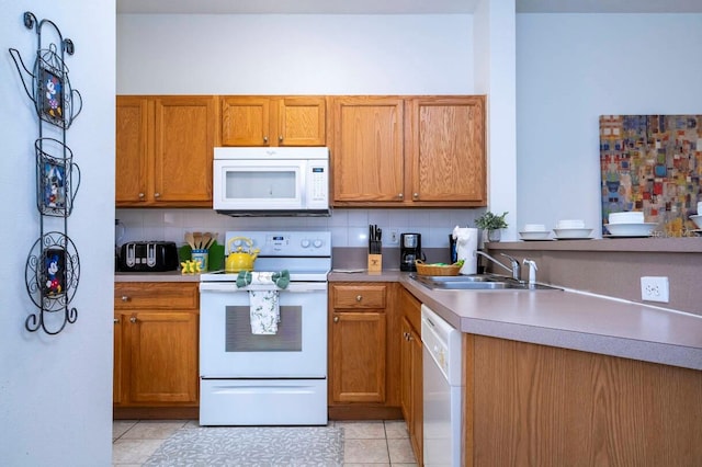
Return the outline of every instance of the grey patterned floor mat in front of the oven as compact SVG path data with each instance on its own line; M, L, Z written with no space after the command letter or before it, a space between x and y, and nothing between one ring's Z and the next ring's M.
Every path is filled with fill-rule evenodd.
M343 431L333 426L183 428L145 466L341 466Z

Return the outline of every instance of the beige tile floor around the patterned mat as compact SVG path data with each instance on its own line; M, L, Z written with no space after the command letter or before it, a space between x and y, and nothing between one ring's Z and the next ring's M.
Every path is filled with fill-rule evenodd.
M112 424L112 465L140 466L173 432L195 420L115 420ZM335 422L343 428L343 465L416 466L403 420Z

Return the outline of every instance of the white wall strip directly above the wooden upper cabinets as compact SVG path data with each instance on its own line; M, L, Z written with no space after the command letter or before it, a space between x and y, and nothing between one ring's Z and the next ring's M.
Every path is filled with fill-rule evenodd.
M117 15L118 94L466 94L472 15Z

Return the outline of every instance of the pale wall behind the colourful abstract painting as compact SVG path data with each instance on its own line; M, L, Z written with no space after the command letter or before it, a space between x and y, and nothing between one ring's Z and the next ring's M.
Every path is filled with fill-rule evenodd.
M517 15L520 228L600 225L599 116L702 113L700 45L701 14Z

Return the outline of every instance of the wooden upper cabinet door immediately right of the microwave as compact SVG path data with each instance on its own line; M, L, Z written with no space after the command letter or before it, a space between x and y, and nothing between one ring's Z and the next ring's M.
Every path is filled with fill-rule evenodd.
M335 205L403 202L404 109L400 98L332 98Z

